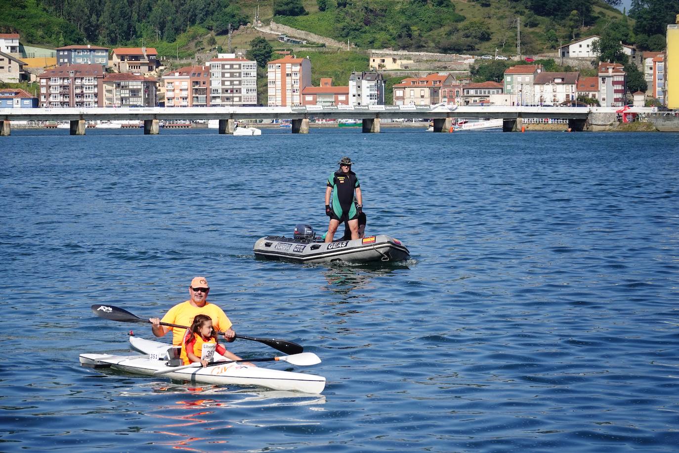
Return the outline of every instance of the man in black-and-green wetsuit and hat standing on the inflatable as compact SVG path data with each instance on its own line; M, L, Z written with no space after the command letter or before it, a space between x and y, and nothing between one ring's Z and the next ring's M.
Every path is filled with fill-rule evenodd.
M330 217L325 242L333 242L339 223L344 221L349 225L351 238L359 238L359 215L363 212L361 184L356 173L351 170L354 162L351 162L350 158L342 158L338 163L339 170L330 175L325 187L325 214ZM354 191L356 204L354 204ZM330 206L331 194L332 207Z

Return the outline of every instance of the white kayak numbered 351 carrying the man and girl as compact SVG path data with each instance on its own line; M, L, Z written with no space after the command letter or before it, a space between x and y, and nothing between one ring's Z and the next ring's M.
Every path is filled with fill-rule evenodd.
M130 336L132 348L144 355L81 354L80 363L94 368L111 367L133 374L154 376L168 365L180 365L179 347ZM227 360L215 352L215 361ZM274 390L321 393L325 378L313 374L283 372L278 369L253 367L242 363L225 363L199 368L183 368L162 374L172 379L217 385L253 385Z

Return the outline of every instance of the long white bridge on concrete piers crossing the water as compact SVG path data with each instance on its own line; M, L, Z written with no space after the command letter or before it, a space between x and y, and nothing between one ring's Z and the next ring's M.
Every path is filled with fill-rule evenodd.
M591 113L615 113L619 107L536 107L456 105L350 105L306 107L63 107L0 109L0 135L10 135L12 121L70 122L71 135L84 135L87 121L143 121L145 134L158 134L163 120L219 120L219 133L232 134L238 120L291 120L293 134L308 134L310 118L363 120L363 132L380 132L380 120L432 120L434 132L448 132L458 118L501 118L504 131L521 130L526 118L568 120L572 130L583 130ZM650 109L634 107L629 112Z

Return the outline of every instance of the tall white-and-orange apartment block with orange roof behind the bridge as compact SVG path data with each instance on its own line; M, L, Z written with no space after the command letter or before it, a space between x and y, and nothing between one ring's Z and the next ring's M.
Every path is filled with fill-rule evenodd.
M286 55L267 63L269 107L302 105L301 90L311 86L311 61Z

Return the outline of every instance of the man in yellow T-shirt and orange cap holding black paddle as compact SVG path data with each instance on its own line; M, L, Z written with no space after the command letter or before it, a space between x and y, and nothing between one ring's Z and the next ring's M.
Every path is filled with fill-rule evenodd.
M206 314L212 319L215 330L224 332L225 340L228 342L234 341L236 332L231 328L232 323L230 319L219 306L208 302L208 292L210 292L210 286L205 277L196 277L191 280L191 285L189 286L191 298L189 300L170 308L165 316L163 316L163 319L149 319L153 335L162 337L171 330L172 344L180 346L186 329L168 327L160 325L160 323L192 325L197 314Z

